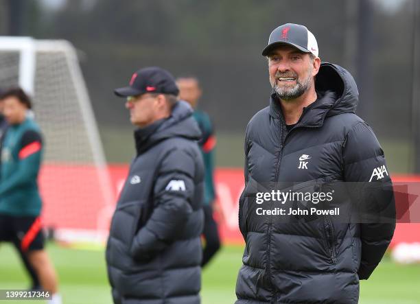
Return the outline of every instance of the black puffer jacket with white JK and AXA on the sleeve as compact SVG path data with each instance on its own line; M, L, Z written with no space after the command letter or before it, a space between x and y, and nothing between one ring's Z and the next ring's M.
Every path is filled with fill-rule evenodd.
M323 62L316 92L318 99L290 131L275 94L246 129L246 187L239 214L246 248L237 277L237 304L358 303L359 279L370 276L393 236L392 183L373 131L355 115L358 91L353 78L342 67ZM363 189L375 184L369 197L362 197L364 191L334 196L333 203L347 220L321 216L284 222L281 216L257 215L257 208L266 204L255 203L259 189L282 183L284 189L311 193L339 181L360 182ZM370 211L390 220L354 222L357 203L373 206Z

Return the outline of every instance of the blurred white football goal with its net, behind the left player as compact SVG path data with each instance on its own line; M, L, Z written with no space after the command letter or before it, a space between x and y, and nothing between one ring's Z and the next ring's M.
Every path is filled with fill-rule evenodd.
M65 40L0 37L0 87L32 96L43 131L44 226L62 239L103 240L115 191L74 47Z

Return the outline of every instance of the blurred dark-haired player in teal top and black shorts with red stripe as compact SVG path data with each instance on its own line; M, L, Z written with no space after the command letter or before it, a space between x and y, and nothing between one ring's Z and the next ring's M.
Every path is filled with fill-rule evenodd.
M32 102L22 89L9 89L0 99L9 125L1 146L0 240L19 244L43 290L51 293L49 303L62 303L56 272L44 249L40 220L42 202L37 181L43 154L40 128L32 115L27 115Z

